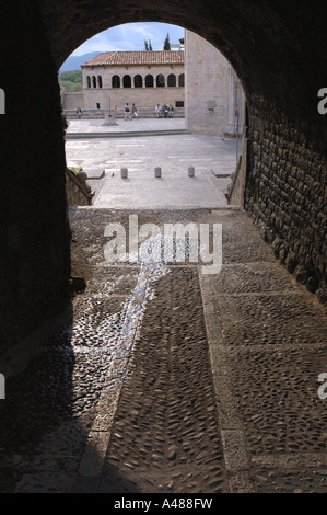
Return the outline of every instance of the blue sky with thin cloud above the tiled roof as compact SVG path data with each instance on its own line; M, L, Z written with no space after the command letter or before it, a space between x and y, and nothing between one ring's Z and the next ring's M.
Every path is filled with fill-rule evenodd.
M144 39L151 39L153 50L162 50L167 33L172 44L179 43L179 38L184 37L184 28L167 23L117 25L87 39L72 55L81 56L90 52L143 50Z

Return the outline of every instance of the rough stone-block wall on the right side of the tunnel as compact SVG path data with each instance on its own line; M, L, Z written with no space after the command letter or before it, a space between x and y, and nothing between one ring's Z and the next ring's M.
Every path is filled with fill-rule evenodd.
M245 207L276 256L327 304L327 167L323 142L303 127L267 103L252 106Z

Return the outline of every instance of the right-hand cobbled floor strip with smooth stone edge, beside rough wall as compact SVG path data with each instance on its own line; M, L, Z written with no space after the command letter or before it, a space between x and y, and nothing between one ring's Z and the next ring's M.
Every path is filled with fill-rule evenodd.
M224 226L227 244L244 229L243 248L246 224ZM244 261L201 276L220 426L246 449L231 491L326 492L326 310L276 262ZM233 446L223 445L233 464Z

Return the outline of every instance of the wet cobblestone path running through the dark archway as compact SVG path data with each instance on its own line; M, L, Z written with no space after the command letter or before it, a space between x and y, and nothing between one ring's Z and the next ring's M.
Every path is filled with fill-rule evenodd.
M222 224L218 275L110 265L105 227L129 214L72 211L86 289L0 356L0 491L326 492L323 306L241 210L139 215Z

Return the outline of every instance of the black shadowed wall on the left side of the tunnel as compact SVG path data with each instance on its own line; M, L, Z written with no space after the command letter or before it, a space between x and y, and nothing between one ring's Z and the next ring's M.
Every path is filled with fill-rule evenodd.
M0 28L12 52L1 62L1 348L69 301L70 236L60 93L38 2L5 2Z

